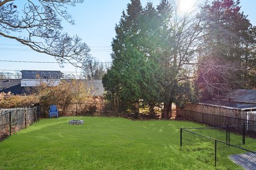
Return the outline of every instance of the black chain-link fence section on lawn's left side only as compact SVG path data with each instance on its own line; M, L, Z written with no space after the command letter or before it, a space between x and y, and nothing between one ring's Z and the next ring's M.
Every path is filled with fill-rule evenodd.
M12 109L0 114L0 141L40 118L40 106Z

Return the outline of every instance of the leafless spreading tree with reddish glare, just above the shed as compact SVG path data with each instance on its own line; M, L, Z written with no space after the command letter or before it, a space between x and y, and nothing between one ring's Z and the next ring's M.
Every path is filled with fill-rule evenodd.
M231 89L242 87L243 80L236 79L238 74L243 74L244 69L239 62L224 61L220 58L208 57L198 64L197 80L198 87L203 90L202 98L219 97L226 95Z

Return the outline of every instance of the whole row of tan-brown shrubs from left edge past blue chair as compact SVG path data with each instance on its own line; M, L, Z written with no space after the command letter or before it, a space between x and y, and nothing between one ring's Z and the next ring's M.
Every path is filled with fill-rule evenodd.
M61 81L58 86L40 83L39 86L30 90L30 95L13 95L0 93L0 108L29 107L40 104L42 115L46 116L50 105L59 105L61 113L66 114L74 105L71 103L92 102L92 88L82 80ZM63 104L63 105L61 105ZM73 108L74 110L74 108Z

